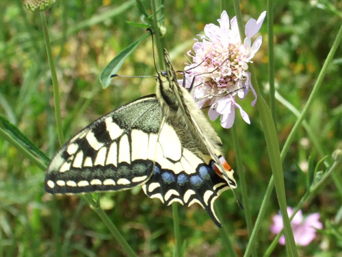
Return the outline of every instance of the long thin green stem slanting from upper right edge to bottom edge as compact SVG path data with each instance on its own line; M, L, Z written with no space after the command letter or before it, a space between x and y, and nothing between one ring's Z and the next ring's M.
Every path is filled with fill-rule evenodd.
M298 119L298 121L301 120L301 122L302 122L304 120L304 117L306 117L306 114L308 112L309 107L312 105L313 100L317 96L317 92L319 90L319 87L321 86L321 82L323 81L324 76L326 75L326 71L328 69L329 64L332 61L334 53L336 52L337 47L339 46L339 43L341 42L341 38L342 38L342 25L339 29L337 37L334 40L334 43L332 45L332 48L330 49L330 52L328 53L328 57L326 58L326 61L324 62L324 65L323 65L323 67L322 67L322 69L318 75L317 82L315 83L315 86L313 87L313 92L311 93L311 95L309 97L310 101L306 102L306 106L304 107L304 110L302 111L302 114L301 114L300 118ZM312 97L312 95L315 95L315 97ZM295 124L301 123L301 122L298 123L298 121ZM287 137L287 140L285 142L285 145L287 147L285 147L285 145L284 145L284 147L282 147L282 151L280 154L280 158L281 158L282 162L285 160L285 156L287 155L287 151L289 150L289 145L291 145L292 140L293 140L295 134L297 134L298 130L299 130L299 125L293 126L293 129L291 130L289 136ZM266 191L265 196L264 196L265 198L267 198L267 199L270 198L270 195L272 194L273 186L274 186L274 178L272 175L272 178L269 180L269 184L267 186L267 191ZM263 220L263 217L265 216L265 210L267 209L268 203L269 203L269 201L263 201L263 204L261 204L261 209L260 209L259 215L257 217L257 221L254 225L254 229L253 229L252 234L258 234L259 233L259 230L261 228L261 221ZM250 247L250 245L253 245L255 243L256 239L257 239L257 236L250 238L250 241L249 241L248 247L247 247L247 249L249 249L249 252L247 252L247 250L246 250L246 253L244 256L248 256L248 254L250 253L250 250L252 249Z

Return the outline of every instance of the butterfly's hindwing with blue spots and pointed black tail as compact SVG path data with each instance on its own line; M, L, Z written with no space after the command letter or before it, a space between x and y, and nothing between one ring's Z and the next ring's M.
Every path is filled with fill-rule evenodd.
M194 145L189 145L192 141L187 141L189 138L186 135L189 133L184 128L178 127L175 130L177 134L166 134L163 133L163 130L168 130L165 127L170 127L170 125L167 123L162 125L159 142L163 141L163 136L168 135L168 140L172 142L169 145L175 146L178 142L180 143L181 155L176 157L174 154L176 158L170 158L165 154L157 157L153 175L143 186L144 193L150 198L161 200L166 205L174 201L185 206L200 204L220 226L213 203L223 191L229 189L226 180L215 173L214 162L209 156L189 150ZM173 149L173 151L176 150ZM157 152L160 153L158 149Z

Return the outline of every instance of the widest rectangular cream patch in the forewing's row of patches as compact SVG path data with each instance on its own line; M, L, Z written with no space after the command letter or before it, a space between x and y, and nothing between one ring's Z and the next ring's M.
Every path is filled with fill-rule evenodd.
M141 130L132 130L132 161L133 160L146 160L148 156L148 134Z

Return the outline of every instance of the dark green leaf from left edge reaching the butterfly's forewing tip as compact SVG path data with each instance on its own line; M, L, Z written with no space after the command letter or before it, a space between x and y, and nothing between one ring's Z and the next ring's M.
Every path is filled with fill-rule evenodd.
M10 123L7 119L0 116L0 128L5 132L12 140L17 143L17 145L20 145L21 147L25 148L27 151L29 151L34 156L40 158L45 163L49 163L49 158L42 152L40 149L34 145L34 143L29 140L23 133L21 133L18 128Z

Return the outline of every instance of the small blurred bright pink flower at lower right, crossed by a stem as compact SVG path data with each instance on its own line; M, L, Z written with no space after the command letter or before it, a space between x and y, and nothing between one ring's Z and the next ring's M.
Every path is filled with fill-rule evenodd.
M292 213L293 209L291 207L287 207L287 214L291 216ZM274 215L273 224L270 228L271 232L278 234L282 230L282 227L282 215ZM297 245L305 246L313 241L316 236L316 229L320 230L323 228L323 225L321 222L319 222L319 213L315 212L304 218L302 215L302 210L299 210L291 221L291 228L293 230L295 243ZM281 245L285 245L284 235L280 236L279 243Z

